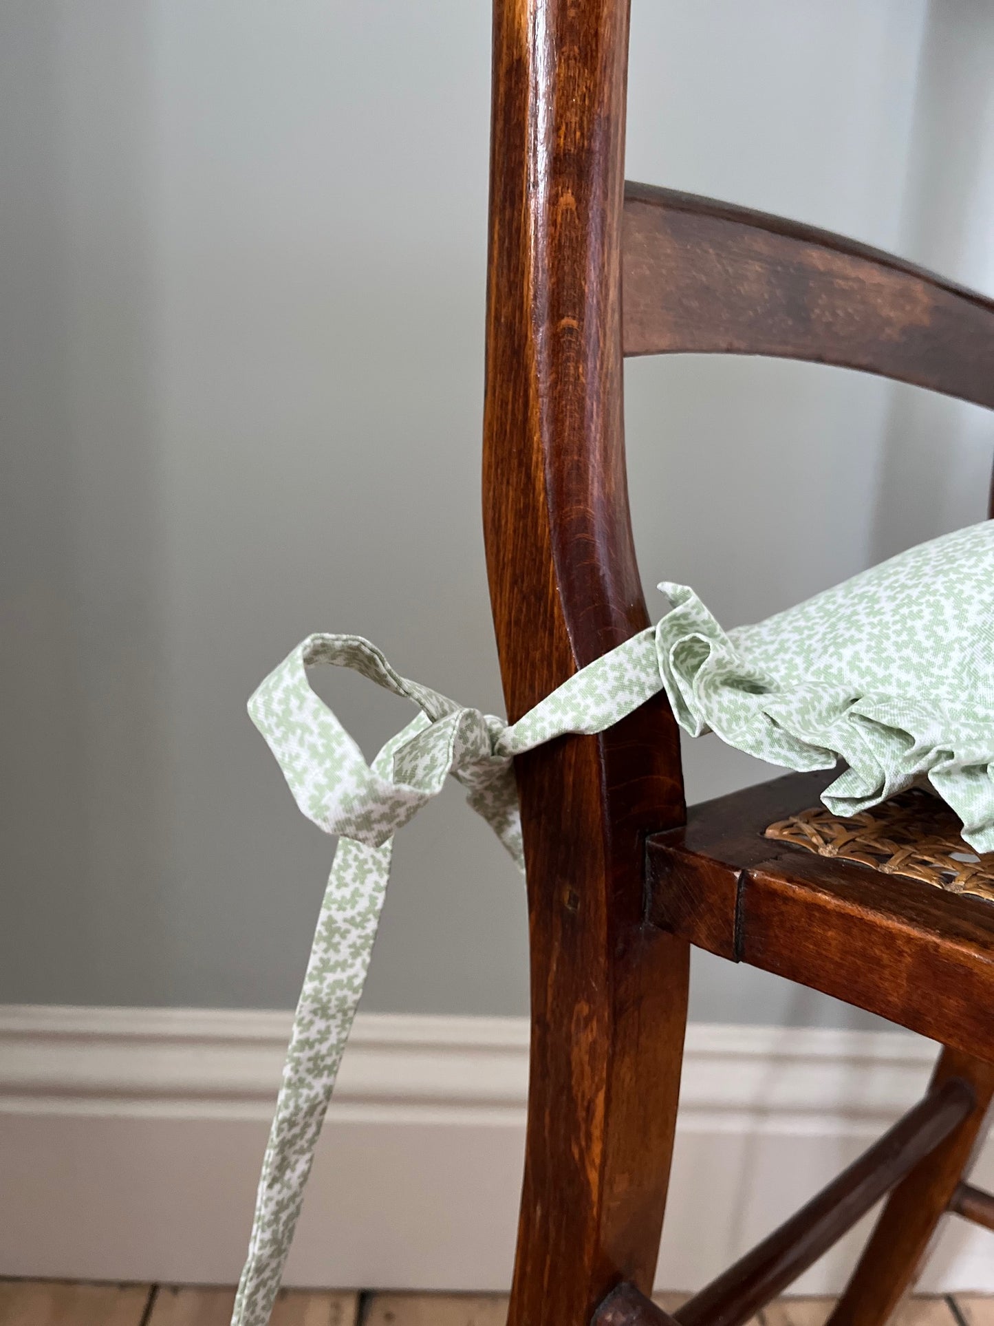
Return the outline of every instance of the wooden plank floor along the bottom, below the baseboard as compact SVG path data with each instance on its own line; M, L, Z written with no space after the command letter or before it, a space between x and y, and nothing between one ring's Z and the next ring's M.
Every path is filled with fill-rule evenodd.
M228 1326L233 1289L0 1281L0 1326ZM677 1307L685 1294L660 1294ZM823 1326L831 1298L782 1298L757 1326ZM284 1290L272 1326L504 1326L506 1298ZM994 1326L994 1297L913 1298L893 1326Z

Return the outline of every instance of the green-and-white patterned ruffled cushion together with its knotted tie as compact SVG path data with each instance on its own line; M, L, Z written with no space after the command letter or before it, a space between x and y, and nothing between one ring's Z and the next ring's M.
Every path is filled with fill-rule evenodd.
M304 979L232 1326L265 1326L368 968L394 834L451 773L524 869L512 760L603 732L660 690L692 736L789 769L846 770L823 794L855 814L928 778L994 851L994 522L922 544L786 613L725 633L685 585L672 610L570 678L518 723L399 676L357 635L311 635L249 713L304 814L338 834ZM367 765L306 668L354 668L420 712Z

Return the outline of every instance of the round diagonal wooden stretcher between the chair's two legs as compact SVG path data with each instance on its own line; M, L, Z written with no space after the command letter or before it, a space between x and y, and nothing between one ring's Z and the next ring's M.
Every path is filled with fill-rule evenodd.
M673 1314L680 1326L744 1326L832 1248L905 1175L924 1168L973 1114L960 1077L938 1075L928 1095L801 1211ZM835 1309L838 1315L839 1309ZM883 1318L881 1318L883 1319Z

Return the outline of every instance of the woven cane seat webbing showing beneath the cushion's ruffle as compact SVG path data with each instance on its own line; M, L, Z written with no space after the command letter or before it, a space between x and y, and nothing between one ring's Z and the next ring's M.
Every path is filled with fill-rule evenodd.
M978 857L949 806L928 792L903 792L846 819L812 806L770 825L765 837L994 902L994 853Z

